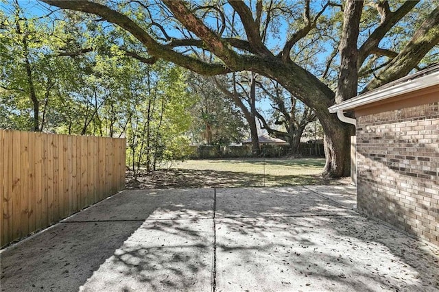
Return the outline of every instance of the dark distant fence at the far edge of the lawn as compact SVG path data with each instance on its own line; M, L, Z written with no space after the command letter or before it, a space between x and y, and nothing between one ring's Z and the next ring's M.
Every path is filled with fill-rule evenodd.
M242 146L219 146L219 145L198 145L191 146L192 154L190 158L209 159L209 158L245 158L252 156L250 145ZM288 145L261 145L261 156L263 157L282 157L287 156ZM320 143L300 143L300 156L324 157L323 144Z

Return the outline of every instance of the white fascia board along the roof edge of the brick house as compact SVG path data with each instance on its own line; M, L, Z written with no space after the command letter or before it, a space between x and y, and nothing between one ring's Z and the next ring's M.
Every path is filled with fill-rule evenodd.
M396 97L405 93L411 93L412 91L420 90L437 84L439 84L439 71L423 77L418 77L415 80L407 80L406 82L390 86L389 88L383 88L382 90L358 95L357 97L343 101L341 104L335 104L334 106L328 108L328 110L331 112L331 114L334 114L339 110L353 110L359 106L365 106L366 104L372 104L376 101Z

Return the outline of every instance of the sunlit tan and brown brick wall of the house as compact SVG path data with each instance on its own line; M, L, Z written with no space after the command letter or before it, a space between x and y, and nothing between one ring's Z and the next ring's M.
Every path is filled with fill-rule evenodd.
M439 103L357 117L357 206L439 245Z

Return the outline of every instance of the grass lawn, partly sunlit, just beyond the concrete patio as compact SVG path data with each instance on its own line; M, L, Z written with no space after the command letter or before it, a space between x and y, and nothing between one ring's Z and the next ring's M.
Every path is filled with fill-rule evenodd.
M324 158L243 158L187 160L143 175L128 188L220 188L346 184L319 176Z

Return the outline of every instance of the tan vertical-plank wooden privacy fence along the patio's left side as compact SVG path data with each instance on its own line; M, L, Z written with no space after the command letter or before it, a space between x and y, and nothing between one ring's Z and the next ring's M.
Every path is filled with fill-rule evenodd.
M125 156L125 139L0 130L0 245L122 190Z

